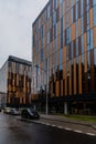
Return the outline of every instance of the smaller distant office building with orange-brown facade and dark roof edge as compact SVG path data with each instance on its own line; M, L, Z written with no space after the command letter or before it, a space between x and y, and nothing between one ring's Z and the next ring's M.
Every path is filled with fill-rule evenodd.
M10 55L0 70L0 92L7 106L31 104L31 62Z

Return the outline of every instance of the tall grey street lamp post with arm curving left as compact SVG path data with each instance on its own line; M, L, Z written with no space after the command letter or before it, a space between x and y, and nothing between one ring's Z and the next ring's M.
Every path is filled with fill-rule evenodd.
M45 76L46 76L45 113L47 115L49 114L49 104L47 104L47 70L45 70L45 69L43 69L43 68L41 68L39 65L35 65L35 66L39 68L39 69L42 69L44 71L44 73L45 73Z

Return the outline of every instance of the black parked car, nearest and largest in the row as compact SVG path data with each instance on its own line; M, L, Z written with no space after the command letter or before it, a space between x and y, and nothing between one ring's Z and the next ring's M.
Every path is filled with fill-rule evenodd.
M21 117L22 119L33 119L33 120L39 120L40 115L39 113L33 110L33 109L23 109L21 111Z

